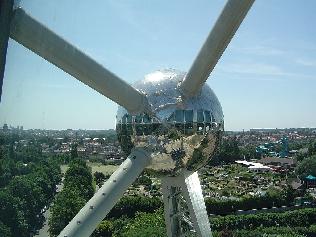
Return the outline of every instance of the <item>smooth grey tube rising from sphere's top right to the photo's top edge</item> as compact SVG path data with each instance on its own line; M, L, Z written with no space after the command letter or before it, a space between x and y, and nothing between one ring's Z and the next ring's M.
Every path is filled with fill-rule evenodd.
M228 0L225 3L193 64L179 83L184 96L197 97L200 94L253 3L254 0Z

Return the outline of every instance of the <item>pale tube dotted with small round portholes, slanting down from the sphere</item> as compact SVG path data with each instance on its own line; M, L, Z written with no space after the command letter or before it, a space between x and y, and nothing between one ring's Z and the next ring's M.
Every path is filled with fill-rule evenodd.
M89 237L138 175L151 162L151 157L146 150L133 148L131 155L91 197L58 237Z

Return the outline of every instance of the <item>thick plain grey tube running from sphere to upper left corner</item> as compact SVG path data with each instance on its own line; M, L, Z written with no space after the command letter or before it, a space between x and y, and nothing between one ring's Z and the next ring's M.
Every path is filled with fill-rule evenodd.
M106 69L21 7L13 15L10 38L123 106L131 115L144 111L148 101L145 93Z

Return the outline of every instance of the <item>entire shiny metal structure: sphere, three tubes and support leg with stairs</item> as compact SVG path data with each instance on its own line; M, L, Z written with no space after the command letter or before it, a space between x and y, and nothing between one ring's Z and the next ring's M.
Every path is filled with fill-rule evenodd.
M144 169L161 177L168 237L212 236L197 170L218 149L224 116L205 82L253 2L225 3L188 72L160 70L133 86L15 4L10 38L119 104L127 158L59 236L88 237Z

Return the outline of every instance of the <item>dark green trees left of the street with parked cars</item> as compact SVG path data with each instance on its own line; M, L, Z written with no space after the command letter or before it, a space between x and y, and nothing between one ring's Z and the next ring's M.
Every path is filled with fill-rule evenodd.
M7 159L1 160L1 167L6 167L7 161L15 164L12 159ZM11 233L6 236L26 234L35 225L45 200L52 196L60 179L60 165L49 157L38 164L32 163L25 173L15 177L8 172L2 175L4 188L0 189L0 223Z

